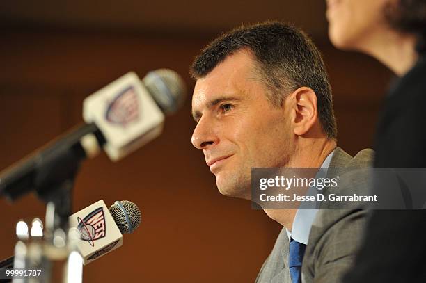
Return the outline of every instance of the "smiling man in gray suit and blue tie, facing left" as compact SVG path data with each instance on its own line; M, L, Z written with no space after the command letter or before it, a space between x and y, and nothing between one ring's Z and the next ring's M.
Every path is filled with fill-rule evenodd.
M266 22L230 31L203 49L191 74L192 143L203 150L223 195L251 200L251 168L362 167L370 161L370 151L352 159L336 147L324 62L292 26ZM264 210L284 228L257 282L340 280L358 247L363 211Z

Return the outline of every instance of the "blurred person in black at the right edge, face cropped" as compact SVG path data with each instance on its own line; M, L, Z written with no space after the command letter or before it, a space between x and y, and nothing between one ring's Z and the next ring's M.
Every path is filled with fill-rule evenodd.
M379 116L374 166L426 168L426 1L326 3L333 45L368 54L398 76ZM372 211L345 282L426 282L425 234L426 211Z

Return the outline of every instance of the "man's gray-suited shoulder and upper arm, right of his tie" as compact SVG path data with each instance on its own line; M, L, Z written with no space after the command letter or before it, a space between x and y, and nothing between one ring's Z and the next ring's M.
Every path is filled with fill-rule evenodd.
M374 159L372 149L363 149L355 156L336 147L328 174L340 175L337 188L328 193L346 195L368 191L368 168ZM347 268L352 266L354 254L361 243L366 211L339 203L327 202L317 213L310 229L306 257L303 261L305 282L315 280L340 282Z

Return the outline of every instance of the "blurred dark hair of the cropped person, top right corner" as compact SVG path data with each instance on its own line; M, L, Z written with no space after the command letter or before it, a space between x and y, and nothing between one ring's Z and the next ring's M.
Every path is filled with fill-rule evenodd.
M417 36L417 51L426 54L426 1L397 0L385 6L385 16L390 26Z

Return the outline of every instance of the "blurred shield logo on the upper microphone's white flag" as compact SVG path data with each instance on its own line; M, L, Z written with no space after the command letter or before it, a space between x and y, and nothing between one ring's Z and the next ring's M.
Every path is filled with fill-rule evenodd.
M126 127L130 122L139 119L138 95L133 86L126 88L110 102L106 119L113 124Z

